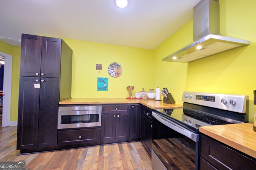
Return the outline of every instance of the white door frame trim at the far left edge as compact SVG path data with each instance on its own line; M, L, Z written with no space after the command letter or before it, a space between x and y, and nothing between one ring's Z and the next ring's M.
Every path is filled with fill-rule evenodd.
M0 56L1 56L0 60L4 59L4 83L3 83L3 92L2 92L2 127L6 127L6 126L10 126L11 90L12 90L12 56L2 52L0 52Z

